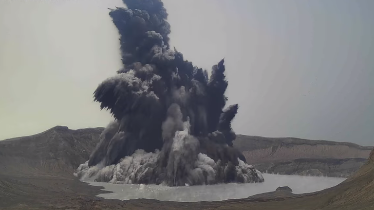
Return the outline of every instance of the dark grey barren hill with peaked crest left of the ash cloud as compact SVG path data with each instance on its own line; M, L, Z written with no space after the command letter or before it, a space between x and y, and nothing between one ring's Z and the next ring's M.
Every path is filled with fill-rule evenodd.
M0 141L0 175L70 176L85 162L103 128L56 126L40 134Z

